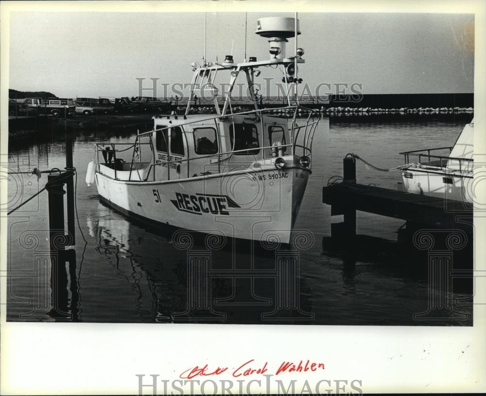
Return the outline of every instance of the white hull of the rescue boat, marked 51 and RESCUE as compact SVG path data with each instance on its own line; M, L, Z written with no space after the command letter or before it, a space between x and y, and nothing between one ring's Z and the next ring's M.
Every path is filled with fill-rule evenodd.
M274 166L169 181L96 173L102 199L141 221L245 240L291 241L310 171Z

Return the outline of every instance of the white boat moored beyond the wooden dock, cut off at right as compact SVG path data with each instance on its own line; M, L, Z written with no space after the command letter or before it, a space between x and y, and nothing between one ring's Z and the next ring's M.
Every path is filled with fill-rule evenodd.
M440 155L443 152L446 154ZM400 154L405 156L407 166L401 168L402 182L399 182L399 190L473 202L474 120L466 124L452 147ZM416 159L418 161L414 162Z

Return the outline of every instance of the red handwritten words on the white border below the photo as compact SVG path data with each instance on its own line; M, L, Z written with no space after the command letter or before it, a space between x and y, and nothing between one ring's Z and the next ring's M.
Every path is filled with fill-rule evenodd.
M251 359L248 362L244 362L241 366L233 370L232 376L233 377L246 377L253 374L264 374L268 371L267 365L268 362L265 362L262 366L258 368L254 368L254 364L250 364L255 362L255 359ZM220 374L225 373L228 370L228 367L217 367L216 369L209 369L208 364L205 364L202 367L194 366L188 368L186 371L182 372L179 378L182 379L191 379L194 377L209 377L209 376L218 376ZM324 370L324 363L319 362L311 362L309 359L306 362L299 361L297 364L294 362L282 362L278 369L275 371L275 375L280 373L292 373L292 372L307 372L307 371L317 371L317 370Z

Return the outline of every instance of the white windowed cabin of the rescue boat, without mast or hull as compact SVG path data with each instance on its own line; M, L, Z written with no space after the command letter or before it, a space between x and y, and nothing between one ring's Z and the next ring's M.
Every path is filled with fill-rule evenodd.
M152 142L156 179L173 179L246 169L290 152L286 119L234 115L207 120L154 118Z

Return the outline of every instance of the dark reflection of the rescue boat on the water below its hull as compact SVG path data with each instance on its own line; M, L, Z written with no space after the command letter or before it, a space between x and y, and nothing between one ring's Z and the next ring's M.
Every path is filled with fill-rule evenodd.
M224 243L214 235L199 241L186 230L172 238L155 233L102 203L95 213L87 217L87 226L96 241L99 265L110 265L130 285L134 306L125 310L135 310L142 322L313 319L308 296L300 293L298 250L276 249L257 257L248 251L237 253L232 241Z

